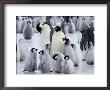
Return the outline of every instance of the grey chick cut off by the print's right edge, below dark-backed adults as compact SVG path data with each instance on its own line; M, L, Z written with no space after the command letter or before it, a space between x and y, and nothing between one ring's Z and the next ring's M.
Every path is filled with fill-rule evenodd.
M94 64L94 46L91 42L90 42L90 47L88 48L86 53L86 62L88 65Z

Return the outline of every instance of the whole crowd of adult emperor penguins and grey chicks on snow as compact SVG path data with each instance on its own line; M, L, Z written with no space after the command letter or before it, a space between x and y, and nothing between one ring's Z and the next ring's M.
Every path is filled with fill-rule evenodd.
M94 65L93 16L17 16L16 33L23 35L16 44L16 62L24 63L22 72L75 74L81 62ZM81 37L74 42L76 33ZM34 34L39 34L41 49L26 45Z

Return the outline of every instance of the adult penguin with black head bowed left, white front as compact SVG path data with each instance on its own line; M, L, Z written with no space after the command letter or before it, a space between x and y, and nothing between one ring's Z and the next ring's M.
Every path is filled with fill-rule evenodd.
M45 49L45 45L50 45L50 26L46 23L39 23L36 29L40 33L41 48Z

